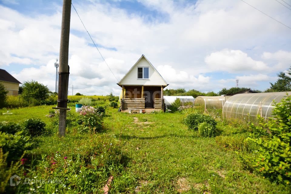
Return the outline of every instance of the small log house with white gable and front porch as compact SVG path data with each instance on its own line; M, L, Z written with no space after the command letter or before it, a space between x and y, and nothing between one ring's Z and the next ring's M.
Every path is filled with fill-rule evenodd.
M163 89L169 85L154 66L142 55L117 83L122 87L121 110L142 112L164 110Z

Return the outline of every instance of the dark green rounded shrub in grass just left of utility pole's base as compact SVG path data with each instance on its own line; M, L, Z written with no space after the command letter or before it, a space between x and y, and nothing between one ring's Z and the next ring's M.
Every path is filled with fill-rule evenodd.
M27 119L23 122L23 126L33 137L42 135L45 132L45 122L40 119Z

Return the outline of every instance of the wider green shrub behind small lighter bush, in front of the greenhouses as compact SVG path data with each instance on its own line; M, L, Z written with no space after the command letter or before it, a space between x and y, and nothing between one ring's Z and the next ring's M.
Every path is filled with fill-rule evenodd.
M188 126L189 129L198 129L198 125L200 123L206 122L209 125L212 126L213 129L216 128L216 121L209 115L203 115L199 113L192 113L187 115L187 117L184 119L184 124Z

